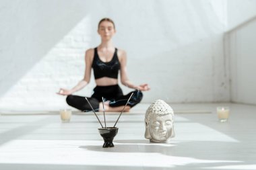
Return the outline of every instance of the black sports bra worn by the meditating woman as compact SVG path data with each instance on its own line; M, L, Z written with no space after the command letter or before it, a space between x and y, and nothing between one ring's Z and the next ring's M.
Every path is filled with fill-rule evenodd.
M94 60L92 62L92 68L94 69L95 79L102 77L117 79L120 69L120 62L117 56L117 48L115 48L114 56L109 62L103 62L100 60L97 48L94 48Z

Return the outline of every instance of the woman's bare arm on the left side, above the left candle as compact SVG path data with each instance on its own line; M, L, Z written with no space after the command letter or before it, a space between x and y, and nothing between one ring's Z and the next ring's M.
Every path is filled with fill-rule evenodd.
M93 55L94 55L93 49L86 50L86 56L85 56L86 69L84 73L84 79L79 81L79 83L77 83L77 85L75 85L75 87L73 87L72 89L61 88L58 93L59 95L70 95L72 93L75 93L75 91L79 91L83 89L84 87L86 87L86 85L88 85L88 83L90 83Z

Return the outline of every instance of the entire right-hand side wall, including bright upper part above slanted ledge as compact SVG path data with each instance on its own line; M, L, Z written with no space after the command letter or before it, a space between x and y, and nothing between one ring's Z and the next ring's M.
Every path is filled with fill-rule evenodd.
M230 100L256 104L256 1L227 1L225 56L230 60Z

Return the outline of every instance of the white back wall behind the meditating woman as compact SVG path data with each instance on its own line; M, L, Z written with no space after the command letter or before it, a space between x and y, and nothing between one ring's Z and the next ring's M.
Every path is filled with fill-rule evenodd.
M149 83L143 102L228 101L226 1L0 1L0 108L60 108L59 87L84 75L84 51L102 17L117 25L130 79ZM90 95L90 85L77 92ZM123 87L128 92L130 89Z

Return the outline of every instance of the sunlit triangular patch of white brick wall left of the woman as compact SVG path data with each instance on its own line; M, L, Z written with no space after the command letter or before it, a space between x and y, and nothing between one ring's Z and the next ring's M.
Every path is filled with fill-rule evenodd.
M65 97L57 95L56 92L60 87L71 88L84 76L84 52L89 48L90 42L89 24L90 19L85 17L38 60L36 65L1 97L1 107L13 108L13 103L14 110L38 110L40 107L42 110L51 110L66 107ZM92 85L86 88L84 94L91 94Z

